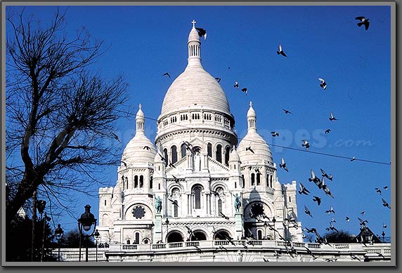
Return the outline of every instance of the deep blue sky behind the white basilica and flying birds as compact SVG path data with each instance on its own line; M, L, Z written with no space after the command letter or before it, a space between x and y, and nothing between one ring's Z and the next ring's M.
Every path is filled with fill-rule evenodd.
M62 7L62 11L67 7ZM21 7L8 7L20 11ZM54 6L31 6L25 12L46 22ZM93 39L104 41L107 51L93 65L105 78L124 74L129 83L128 105L136 112L143 105L145 116L157 119L164 94L187 64L187 39L191 21L207 29L202 39L203 67L221 78L238 137L247 131L249 101L257 112L257 130L271 145L278 165L284 157L289 173L278 169L281 183L302 182L311 194L297 194L298 216L304 227L321 234L331 216L337 229L357 234L357 217L375 234L382 224L391 234L391 213L381 197L391 203L391 167L364 161L299 152L302 139L310 150L344 157L387 163L391 161L391 39L389 6L69 6L67 34L79 27ZM370 18L370 27L358 27L356 16ZM287 58L277 55L278 44ZM230 69L228 68L230 67ZM171 74L171 79L162 76ZM320 88L318 78L328 84ZM233 88L234 81L248 93ZM294 114L286 115L282 108ZM332 112L339 121L330 121ZM330 128L331 132L323 135ZM278 131L279 138L271 137ZM134 119L119 120L121 152L135 133ZM155 140L155 121L145 121L145 133ZM240 141L240 140L239 140ZM309 182L310 169L320 168L334 176L328 181L335 199L326 197ZM100 179L114 186L117 166L101 169ZM375 187L382 189L382 195ZM98 185L93 185L93 193ZM323 197L320 206L312 195ZM80 196L77 218L90 204L98 217L98 199ZM313 218L304 213L308 206ZM335 215L325 213L332 206ZM392 207L392 204L391 204ZM345 217L351 218L346 222ZM74 229L77 218L59 218L65 230Z

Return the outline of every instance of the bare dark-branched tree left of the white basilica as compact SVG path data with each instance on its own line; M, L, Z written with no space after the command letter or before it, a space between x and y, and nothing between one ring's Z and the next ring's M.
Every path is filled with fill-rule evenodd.
M102 42L84 29L67 34L65 13L43 26L22 11L8 14L7 24L6 170L16 181L8 185L10 222L35 190L63 207L70 189L86 192L94 166L116 164L110 140L115 121L127 116L127 84L89 71Z

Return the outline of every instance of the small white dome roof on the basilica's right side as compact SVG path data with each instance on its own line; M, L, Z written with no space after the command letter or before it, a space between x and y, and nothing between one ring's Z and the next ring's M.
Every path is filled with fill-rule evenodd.
M254 153L246 150L247 147L251 147ZM240 141L238 154L242 164L256 164L261 161L268 161L268 163L273 164L271 149L256 131L249 131Z

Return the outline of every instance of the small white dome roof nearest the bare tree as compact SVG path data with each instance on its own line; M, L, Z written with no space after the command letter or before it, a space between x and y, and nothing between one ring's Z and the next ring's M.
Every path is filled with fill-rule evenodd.
M153 163L155 154L156 149L145 134L136 133L124 149L122 161L129 166L135 163Z

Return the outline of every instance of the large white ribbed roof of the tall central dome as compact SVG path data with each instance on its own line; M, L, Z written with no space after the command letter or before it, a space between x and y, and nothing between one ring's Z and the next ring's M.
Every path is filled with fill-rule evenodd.
M186 67L167 90L161 116L189 107L231 114L228 98L216 79L202 67Z

